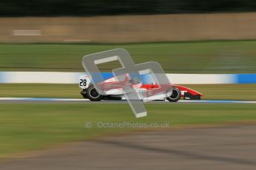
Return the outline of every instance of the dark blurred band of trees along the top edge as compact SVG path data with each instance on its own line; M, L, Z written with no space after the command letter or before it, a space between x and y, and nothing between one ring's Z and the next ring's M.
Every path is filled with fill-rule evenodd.
M0 0L0 16L103 16L122 14L256 11L255 0Z

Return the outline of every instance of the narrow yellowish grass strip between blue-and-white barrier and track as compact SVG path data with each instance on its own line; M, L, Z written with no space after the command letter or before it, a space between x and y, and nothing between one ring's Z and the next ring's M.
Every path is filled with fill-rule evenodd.
M256 101L256 84L184 85L207 100ZM0 98L82 98L78 84L0 84Z

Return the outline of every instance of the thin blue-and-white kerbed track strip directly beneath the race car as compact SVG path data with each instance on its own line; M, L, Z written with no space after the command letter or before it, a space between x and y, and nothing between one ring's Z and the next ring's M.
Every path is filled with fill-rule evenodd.
M0 98L0 103L127 103L126 101L90 101L88 99L80 98ZM150 101L146 103L165 103L168 101ZM223 101L223 100L202 100L202 101L184 101L180 100L178 103L254 103L256 101Z

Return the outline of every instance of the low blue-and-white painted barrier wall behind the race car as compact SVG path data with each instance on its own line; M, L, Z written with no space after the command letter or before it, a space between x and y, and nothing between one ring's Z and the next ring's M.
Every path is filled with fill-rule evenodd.
M0 84L78 84L84 72L0 72ZM110 78L111 73L102 73ZM256 74L167 74L173 84L256 84Z

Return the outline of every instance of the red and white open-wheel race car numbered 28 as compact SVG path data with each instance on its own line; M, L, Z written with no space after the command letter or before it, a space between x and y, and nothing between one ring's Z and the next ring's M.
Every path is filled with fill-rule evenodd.
M102 77L104 78L103 84L113 84L116 83L116 79L113 77L111 73L102 73ZM184 100L200 100L203 94L197 92L194 89L189 89L185 86L180 86L176 84L168 84L165 85L170 87L172 90L171 95L166 98L157 98L156 100L168 100L170 102L177 102L180 98ZM94 86L91 82L91 77L87 74L81 75L79 79L79 87L82 88L80 94L83 98L88 98L90 101L101 101L101 100L125 100L125 95L122 92L122 88L119 89L110 89L105 95L101 95L99 93L99 89ZM152 89L158 89L160 86L155 84L153 78L147 76L142 76L142 82L140 86L135 87L134 89L139 94L140 100L146 100L147 97L143 94L149 94ZM129 98L130 99L130 98Z

